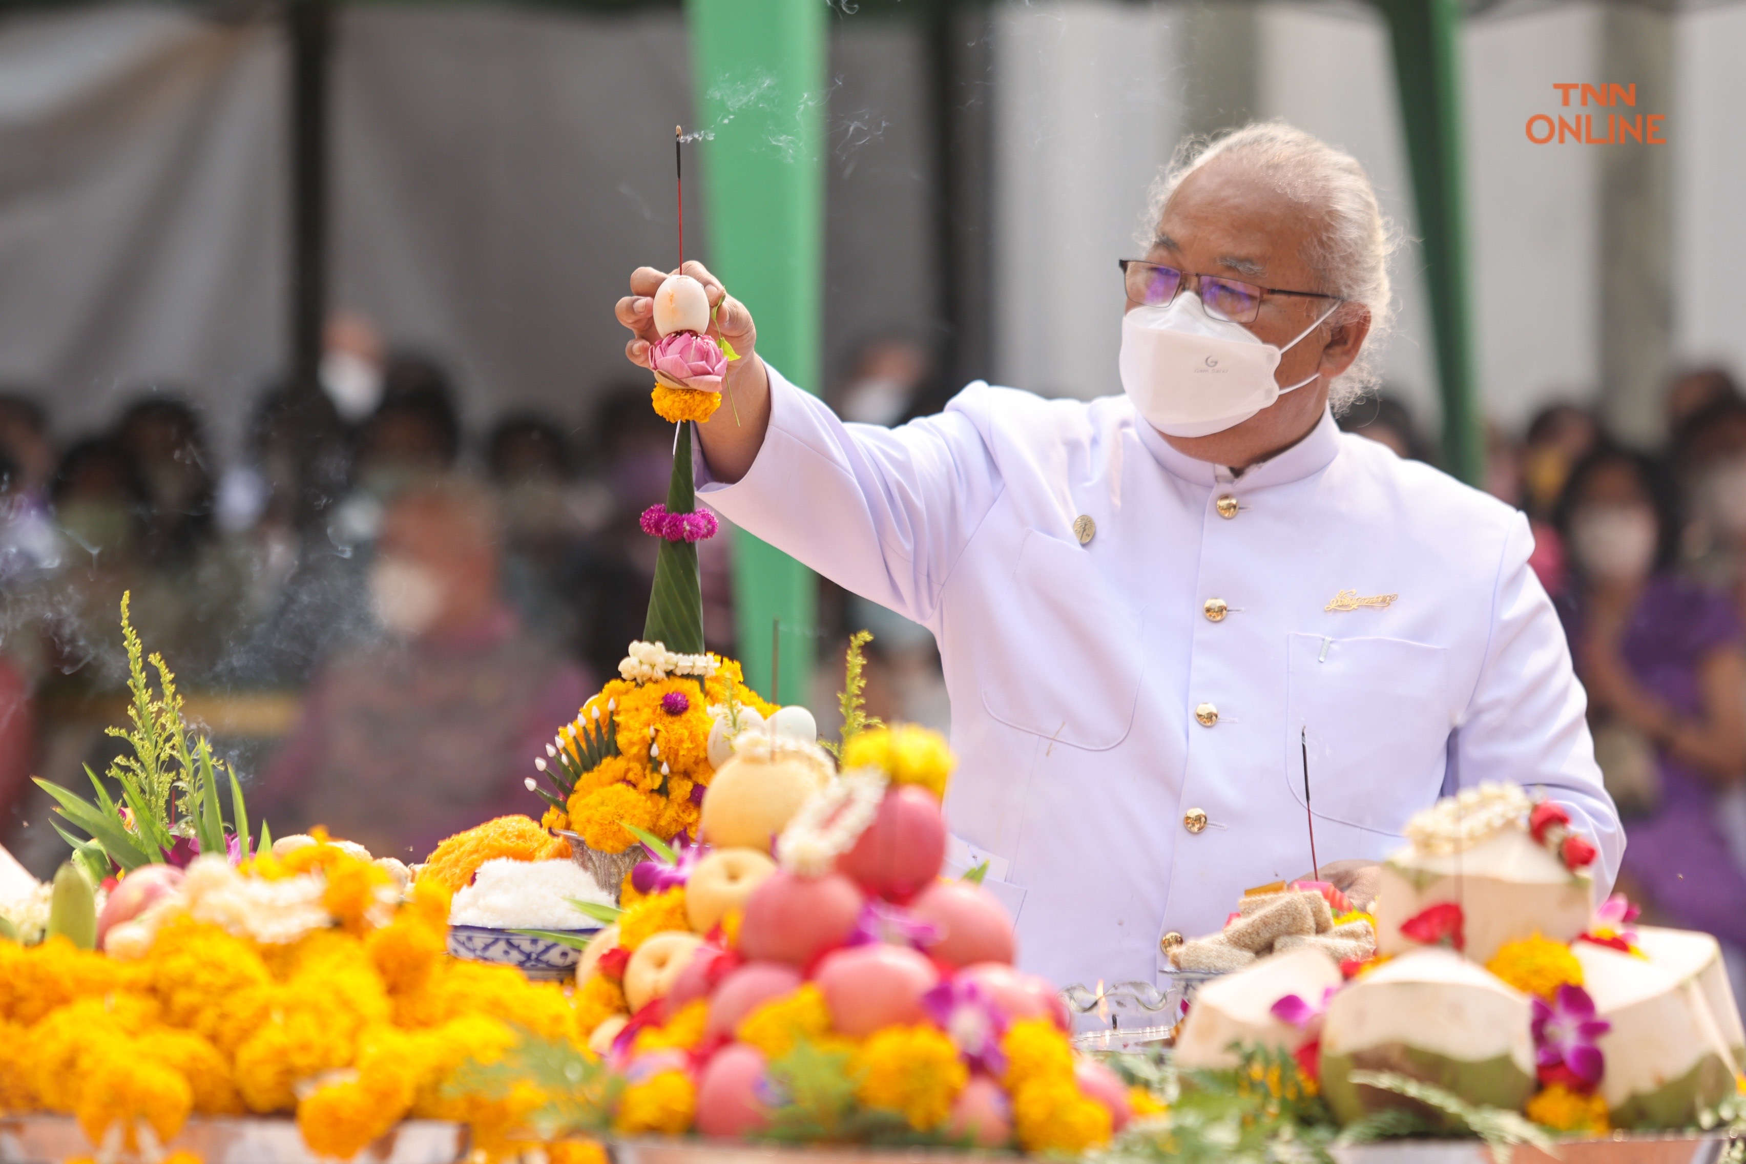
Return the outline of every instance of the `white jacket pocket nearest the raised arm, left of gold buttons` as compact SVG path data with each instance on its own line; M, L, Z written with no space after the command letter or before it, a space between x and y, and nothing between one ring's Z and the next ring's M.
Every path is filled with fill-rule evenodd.
M1009 621L1013 644L1028 647L1021 670L981 677L990 716L1051 742L1102 752L1133 728L1144 654L1140 614L1081 546L1037 531L1025 536L1011 590L990 595ZM1020 651L986 653L1009 667Z

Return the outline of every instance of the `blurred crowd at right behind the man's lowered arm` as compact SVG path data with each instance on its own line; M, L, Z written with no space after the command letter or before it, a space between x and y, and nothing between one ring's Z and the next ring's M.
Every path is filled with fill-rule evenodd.
M1486 487L1533 527L1626 820L1619 888L1648 920L1709 930L1746 969L1746 398L1722 368L1673 379L1667 440L1638 448L1575 403L1491 431ZM1343 426L1430 459L1407 410ZM1484 773L1479 773L1484 777Z

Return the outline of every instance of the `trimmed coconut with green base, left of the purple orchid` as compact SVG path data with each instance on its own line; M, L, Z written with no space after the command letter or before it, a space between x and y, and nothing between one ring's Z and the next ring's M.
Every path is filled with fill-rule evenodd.
M1322 1021L1322 1094L1341 1124L1423 1105L1351 1082L1397 1072L1468 1103L1521 1110L1535 1087L1528 996L1447 949L1386 962L1334 995Z

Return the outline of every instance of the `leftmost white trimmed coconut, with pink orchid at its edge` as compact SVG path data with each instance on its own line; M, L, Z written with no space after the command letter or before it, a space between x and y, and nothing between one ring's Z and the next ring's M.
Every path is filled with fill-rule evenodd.
M1299 1030L1273 1014L1273 1003L1297 995L1311 1005L1329 986L1339 986L1339 965L1320 949L1292 949L1213 979L1194 995L1194 1007L1177 1038L1177 1066L1233 1068L1233 1044L1297 1051L1310 1042Z

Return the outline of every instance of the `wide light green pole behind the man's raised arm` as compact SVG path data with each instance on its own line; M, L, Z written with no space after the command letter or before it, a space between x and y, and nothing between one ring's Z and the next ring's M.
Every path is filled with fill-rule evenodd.
M709 262L758 319L758 354L817 391L824 298L826 14L821 0L686 0ZM812 571L740 531L733 602L746 681L812 693ZM780 691L772 646L780 642Z

